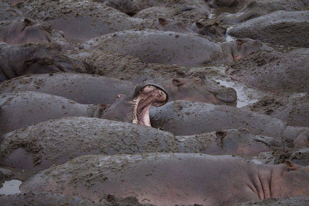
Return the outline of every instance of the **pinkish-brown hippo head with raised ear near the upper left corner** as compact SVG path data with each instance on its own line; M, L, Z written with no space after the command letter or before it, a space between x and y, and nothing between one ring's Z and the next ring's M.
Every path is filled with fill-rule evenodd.
M53 32L50 24L33 20L29 18L16 20L14 27L11 28L10 36L7 36L6 40L11 44L21 44L29 42L51 42L53 38L51 36ZM61 38L61 34L54 32L53 35Z

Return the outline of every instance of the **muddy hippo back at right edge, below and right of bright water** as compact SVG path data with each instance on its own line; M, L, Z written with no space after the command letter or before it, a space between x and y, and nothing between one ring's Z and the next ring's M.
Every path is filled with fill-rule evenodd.
M309 127L308 92L265 96L242 109L266 114L293 126Z

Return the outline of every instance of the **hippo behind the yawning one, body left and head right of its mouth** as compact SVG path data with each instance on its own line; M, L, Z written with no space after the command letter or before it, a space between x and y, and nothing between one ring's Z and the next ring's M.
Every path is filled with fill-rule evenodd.
M179 72L177 75L183 75ZM186 74L185 74L186 75ZM176 76L176 75L175 75ZM171 78L160 81L169 101L190 100L209 103L237 101L233 88L219 86L211 80L199 77ZM112 104L118 95L131 95L135 84L115 78L76 73L26 75L5 81L0 94L6 92L33 91L66 97L80 104Z

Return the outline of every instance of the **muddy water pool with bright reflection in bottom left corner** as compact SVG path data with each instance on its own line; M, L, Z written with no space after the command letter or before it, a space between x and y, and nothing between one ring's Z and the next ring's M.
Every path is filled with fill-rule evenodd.
M0 180L0 194L1 195L11 195L21 192L19 186L22 182L32 177L34 174L40 172L41 170L21 170L9 167L1 167L3 169L11 170L14 177L6 178Z

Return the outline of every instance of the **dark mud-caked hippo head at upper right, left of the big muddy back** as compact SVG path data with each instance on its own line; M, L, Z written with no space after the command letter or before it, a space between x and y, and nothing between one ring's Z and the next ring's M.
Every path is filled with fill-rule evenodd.
M217 19L206 19L195 23L198 34L210 36L214 41L226 41L226 26Z

